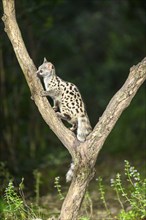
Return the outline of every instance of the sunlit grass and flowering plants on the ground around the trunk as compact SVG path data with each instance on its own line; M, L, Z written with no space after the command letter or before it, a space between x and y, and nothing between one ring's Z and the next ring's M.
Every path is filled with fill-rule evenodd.
M109 161L109 163L112 162ZM102 164L98 165L98 168L99 173L102 173L103 176L98 178L96 176L91 182L84 197L79 220L146 219L146 179L142 177L143 175L141 176L140 172L127 160L125 160L124 166L118 164L121 173L110 173L102 166ZM106 172L103 172L105 170ZM119 171L118 168L117 170ZM48 193L42 196L40 190L43 186L42 174L35 171L35 196L30 198L24 195L24 179L22 178L18 186L14 186L14 181L8 175L8 171L6 173L8 185L1 192L3 195L0 201L0 219L31 220L40 218L47 220L51 216L59 215L64 193L66 193L66 186L61 183L59 177L56 177L54 181L56 194Z

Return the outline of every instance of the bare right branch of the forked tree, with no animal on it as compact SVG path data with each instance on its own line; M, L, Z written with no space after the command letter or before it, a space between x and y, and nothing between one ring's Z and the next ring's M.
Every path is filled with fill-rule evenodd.
M89 135L89 157L97 157L107 136L110 134L122 112L130 105L139 87L146 80L146 58L130 69L129 76L122 88L113 96L94 130Z

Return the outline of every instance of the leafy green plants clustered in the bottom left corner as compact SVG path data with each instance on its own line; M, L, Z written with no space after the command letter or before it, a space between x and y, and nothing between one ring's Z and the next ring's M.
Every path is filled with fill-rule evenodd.
M19 184L19 192L12 180L9 181L8 186L5 189L4 199L1 200L1 212L0 219L2 220L27 220L27 219L41 219L44 216L42 209L38 204L26 202L24 196L24 179L22 178ZM37 184L37 183L36 183ZM37 194L37 193L36 193ZM37 200L38 202L38 200ZM48 213L49 214L49 213Z

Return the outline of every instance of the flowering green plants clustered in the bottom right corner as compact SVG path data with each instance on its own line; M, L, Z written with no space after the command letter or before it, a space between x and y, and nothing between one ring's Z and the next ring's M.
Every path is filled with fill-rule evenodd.
M125 175L127 181L131 184L129 190L130 196L125 192L121 185L120 175L117 176L113 186L122 193L126 201L129 203L131 210L126 212L122 210L119 214L119 219L123 219L124 215L127 219L144 219L146 218L146 179L141 179L139 172L129 162L125 160Z

